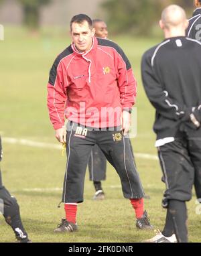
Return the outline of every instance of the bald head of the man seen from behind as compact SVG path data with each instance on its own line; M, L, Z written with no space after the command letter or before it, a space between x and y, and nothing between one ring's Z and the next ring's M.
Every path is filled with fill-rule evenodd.
M165 38L185 36L188 19L184 9L178 5L167 6L161 13L159 25L164 31Z

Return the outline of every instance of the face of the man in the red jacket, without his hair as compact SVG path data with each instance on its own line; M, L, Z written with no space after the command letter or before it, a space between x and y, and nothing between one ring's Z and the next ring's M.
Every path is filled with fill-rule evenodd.
M72 23L70 36L79 52L87 52L92 46L94 29L90 29L87 21L83 21L83 23L74 22Z

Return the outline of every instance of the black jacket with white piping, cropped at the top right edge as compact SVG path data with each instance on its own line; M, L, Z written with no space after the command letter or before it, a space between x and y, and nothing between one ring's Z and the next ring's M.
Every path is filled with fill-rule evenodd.
M201 8L196 9L188 21L189 25L188 29L186 29L186 36L201 42Z

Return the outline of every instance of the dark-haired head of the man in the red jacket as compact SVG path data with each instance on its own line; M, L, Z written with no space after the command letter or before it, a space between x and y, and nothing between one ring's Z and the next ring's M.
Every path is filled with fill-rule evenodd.
M70 36L74 46L79 52L86 52L92 46L92 37L95 29L92 20L85 14L78 14L70 21Z

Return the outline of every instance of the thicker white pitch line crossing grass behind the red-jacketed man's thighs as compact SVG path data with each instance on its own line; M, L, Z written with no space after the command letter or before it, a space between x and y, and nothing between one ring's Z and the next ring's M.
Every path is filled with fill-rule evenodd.
M10 137L2 137L3 143L9 144L19 144L25 145L29 147L41 147L41 148L48 148L48 149L62 149L62 145L57 145L54 143L45 143L39 141L30 141L28 139L15 139ZM149 159L149 160L158 160L157 155L151 155L148 153L134 153L135 157Z

